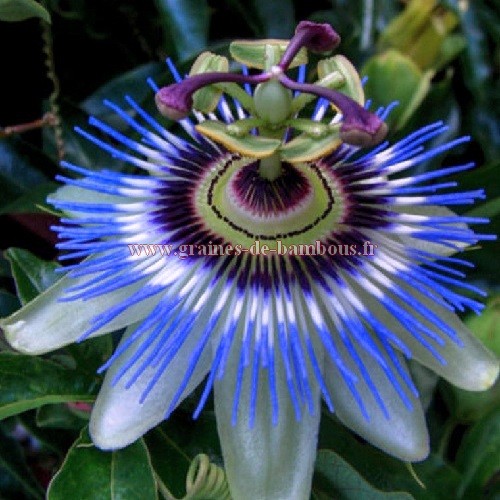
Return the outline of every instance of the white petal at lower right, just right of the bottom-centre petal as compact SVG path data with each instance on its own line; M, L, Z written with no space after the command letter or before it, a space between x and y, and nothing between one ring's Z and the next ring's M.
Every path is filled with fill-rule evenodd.
M367 441L401 460L415 462L427 457L429 436L425 416L418 398L406 388L399 375L395 375L413 406L412 409L408 409L378 362L366 354L363 349L358 349L360 358L385 404L389 415L387 418L354 361L348 357L345 349L341 348L341 351L346 364L358 378L355 387L363 400L369 421L361 412L336 365L327 360L325 381L337 417L344 425ZM408 374L404 360L399 355L398 359Z

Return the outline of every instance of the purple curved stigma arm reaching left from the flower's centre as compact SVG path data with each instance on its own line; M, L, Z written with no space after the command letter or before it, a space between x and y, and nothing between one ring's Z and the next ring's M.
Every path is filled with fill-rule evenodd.
M193 107L193 94L207 85L214 83L262 83L271 78L271 75L240 75L236 73L213 72L192 75L182 82L162 87L155 95L156 106L160 113L171 120L186 118Z

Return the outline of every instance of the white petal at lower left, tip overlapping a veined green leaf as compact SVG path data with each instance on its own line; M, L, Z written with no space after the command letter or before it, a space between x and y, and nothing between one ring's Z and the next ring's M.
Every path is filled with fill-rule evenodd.
M126 342L138 325L129 327L121 343ZM194 332L189 335L170 365L154 385L144 402L140 398L156 373L152 366L126 388L130 375L126 373L116 385L113 378L128 361L127 352L120 356L109 368L104 378L101 391L92 410L89 432L94 444L103 450L123 448L141 437L149 429L160 423L182 382L191 353L199 340ZM156 346L152 346L154 349ZM149 349L146 356L151 352ZM142 358L141 358L142 359ZM180 404L207 374L211 363L209 349L200 357L199 363L177 404ZM133 368L132 372L133 373Z

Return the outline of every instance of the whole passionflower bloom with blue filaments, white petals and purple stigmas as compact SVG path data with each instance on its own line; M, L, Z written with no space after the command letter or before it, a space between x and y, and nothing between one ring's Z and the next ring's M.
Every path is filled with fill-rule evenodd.
M150 84L177 135L130 97L132 114L105 104L137 139L96 118L77 130L142 173L62 164L77 176L50 200L58 247L83 260L2 325L28 353L126 327L101 369L96 446L132 443L205 380L194 417L213 390L232 496L309 498L321 400L417 461L429 438L407 360L468 390L495 381L497 359L456 315L483 294L452 256L492 237L446 208L484 194L441 180L473 165L402 175L468 138L430 147L446 130L434 123L382 142L390 109L368 110L347 59L304 83L307 50L338 42L303 22L289 43L234 43L251 72L209 53L185 79L171 66L176 83Z

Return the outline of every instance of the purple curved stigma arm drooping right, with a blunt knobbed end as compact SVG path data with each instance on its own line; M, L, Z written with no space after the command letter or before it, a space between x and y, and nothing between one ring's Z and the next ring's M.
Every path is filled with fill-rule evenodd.
M297 83L286 75L281 75L279 81L290 90L324 97L339 108L343 115L340 138L345 143L370 147L380 143L386 136L387 125L345 94L311 83Z

